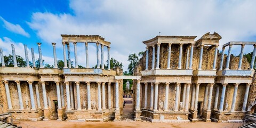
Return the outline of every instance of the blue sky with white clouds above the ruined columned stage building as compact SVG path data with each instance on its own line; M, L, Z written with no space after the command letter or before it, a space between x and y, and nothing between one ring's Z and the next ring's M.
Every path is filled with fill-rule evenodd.
M229 41L256 40L256 1L2 1L0 47L25 58L23 44L42 43L43 59L53 64L51 42L57 43L57 58L63 59L60 34L101 35L111 42L111 57L127 70L129 54L145 50L142 41L161 35L197 36L216 31L220 45ZM241 46L234 46L238 54ZM74 47L71 59L74 60ZM221 49L221 46L219 46ZM251 52L252 46L245 51ZM227 50L226 50L227 52ZM107 59L105 47L105 60ZM30 51L29 51L30 54ZM85 66L85 47L78 44L78 65ZM31 55L30 55L31 60ZM96 64L95 44L89 44L90 66Z

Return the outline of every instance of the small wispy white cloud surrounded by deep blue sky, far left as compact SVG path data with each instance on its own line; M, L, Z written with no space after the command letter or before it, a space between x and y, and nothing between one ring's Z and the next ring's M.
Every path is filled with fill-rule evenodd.
M4 27L12 31L13 33L17 33L26 37L30 37L30 35L18 24L14 25L13 23L10 23L6 21L4 18L0 17L0 19L4 22Z

